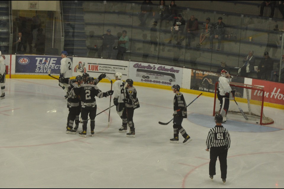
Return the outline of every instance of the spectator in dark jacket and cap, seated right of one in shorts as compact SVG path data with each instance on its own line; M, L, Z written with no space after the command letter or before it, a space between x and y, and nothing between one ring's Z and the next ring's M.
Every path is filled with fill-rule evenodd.
M218 47L217 50L220 50L221 48L221 40L224 38L225 36L225 23L223 22L223 18L219 17L218 18L218 22L215 23L214 25L214 33L213 35L210 36L210 47L209 49L213 48L213 38L218 39Z

